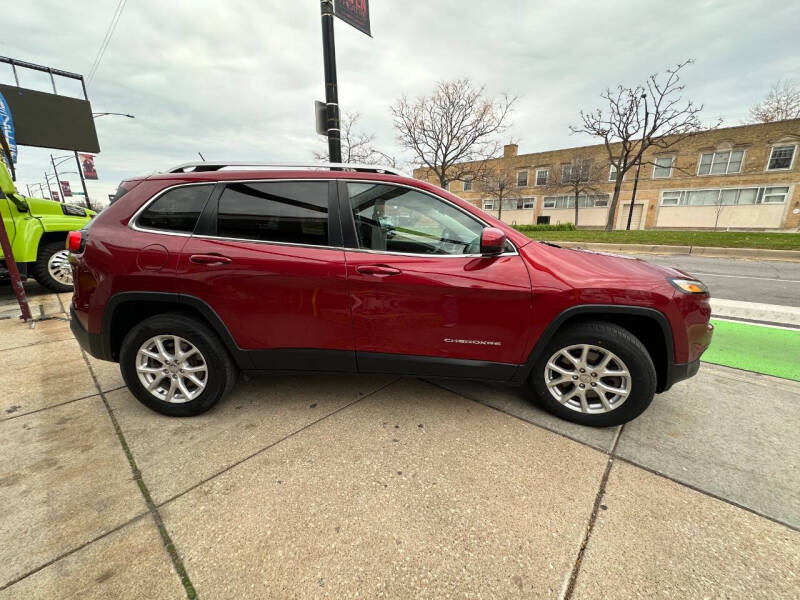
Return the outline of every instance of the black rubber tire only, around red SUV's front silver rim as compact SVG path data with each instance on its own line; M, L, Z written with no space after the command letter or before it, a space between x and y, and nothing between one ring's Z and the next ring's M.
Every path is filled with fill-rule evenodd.
M602 350L612 352L622 360L630 373L630 392L628 397L621 404L608 412L585 413L569 408L569 406L559 402L553 394L550 393L550 389L547 386L545 368L551 357L563 348L579 344L595 346ZM597 356L598 359L602 357L602 355L596 353L593 353L592 356ZM568 361L562 364L568 364ZM590 372L591 369L588 369L588 371L589 372L584 375L587 378L593 377L594 374ZM575 375L571 375L568 378L571 380L576 375L579 377L581 376L581 374L576 371ZM580 381L581 380L574 384L565 382L560 386L560 389L567 390L567 392L562 394L562 398L569 396L571 391L575 390L574 387L570 386L577 386L580 384ZM591 399L596 405L600 402L599 396L595 390L588 389L593 381L600 380L588 379L587 383L584 385L586 387L586 392L591 394ZM650 354L647 352L642 342L630 331L618 325L614 325L613 323L583 322L569 325L556 333L536 361L533 370L528 376L528 382L539 404L547 411L581 425L588 425L590 427L612 427L627 423L644 412L655 395L657 379L656 370L653 366ZM608 383L608 380L606 379L605 382ZM612 396L611 399L613 400L614 397L615 396ZM606 398L608 398L608 396L606 396ZM578 399L574 399L571 402L578 403Z

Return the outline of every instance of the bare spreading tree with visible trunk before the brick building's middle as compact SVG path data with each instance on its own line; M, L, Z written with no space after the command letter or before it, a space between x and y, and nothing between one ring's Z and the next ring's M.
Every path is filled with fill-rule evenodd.
M667 150L703 129L699 114L702 104L681 97L684 85L680 72L693 60L686 60L664 73L650 75L644 84L635 87L618 85L600 94L606 108L581 111L581 123L571 126L573 133L588 133L605 144L608 160L616 168L614 195L608 209L606 231L614 228L622 179L642 154L651 147ZM645 108L649 108L645 123ZM722 121L706 127L714 129Z

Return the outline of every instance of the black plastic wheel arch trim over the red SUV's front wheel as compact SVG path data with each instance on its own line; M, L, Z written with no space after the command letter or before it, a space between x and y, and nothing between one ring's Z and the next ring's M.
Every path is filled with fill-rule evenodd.
M659 385L657 391L663 392L670 388L672 383L674 383L675 342L672 336L672 327L669 324L667 316L655 308L649 308L646 306L630 306L627 304L581 304L578 306L571 306L563 310L550 322L542 335L539 336L539 339L536 341L536 345L528 355L528 359L523 365L520 365L520 368L517 369L517 372L514 374L512 380L516 383L523 383L527 380L528 375L530 375L530 372L533 370L533 366L536 364L536 361L539 360L539 357L544 349L565 322L574 317L593 315L598 317L602 317L603 315L631 315L645 317L658 323L666 343L665 350L667 364L665 381L662 385Z

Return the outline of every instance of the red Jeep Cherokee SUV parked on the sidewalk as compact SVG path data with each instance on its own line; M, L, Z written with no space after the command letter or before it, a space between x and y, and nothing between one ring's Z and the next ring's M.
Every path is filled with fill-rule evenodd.
M711 340L690 275L532 241L378 167L197 163L121 184L68 240L72 330L150 408L196 415L237 371L528 382L624 423Z

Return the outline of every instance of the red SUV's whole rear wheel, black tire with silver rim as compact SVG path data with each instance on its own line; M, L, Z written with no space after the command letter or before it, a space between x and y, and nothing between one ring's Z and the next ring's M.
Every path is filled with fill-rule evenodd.
M199 415L236 381L219 338L200 321L165 313L136 325L120 349L120 370L134 396L165 415Z

